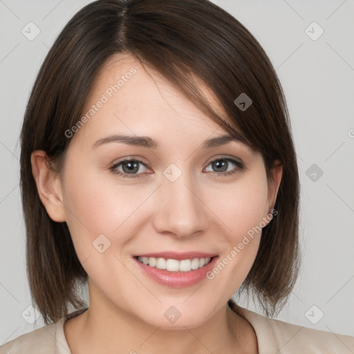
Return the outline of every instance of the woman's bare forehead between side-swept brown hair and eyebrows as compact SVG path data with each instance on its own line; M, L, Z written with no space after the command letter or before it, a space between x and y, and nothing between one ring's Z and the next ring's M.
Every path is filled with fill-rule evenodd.
M193 80L220 113L221 106L212 91L195 75ZM149 134L166 131L167 127L198 129L205 134L221 129L158 71L142 66L127 54L111 57L97 73L86 97L84 116L89 117L85 130L95 136L109 127Z

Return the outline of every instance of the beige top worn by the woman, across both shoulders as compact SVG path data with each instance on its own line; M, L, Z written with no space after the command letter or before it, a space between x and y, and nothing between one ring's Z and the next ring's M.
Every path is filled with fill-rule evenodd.
M353 354L354 337L297 326L263 317L241 306L232 309L252 324L259 354ZM76 310L54 324L48 324L0 346L0 354L71 354L64 335L66 319L87 308Z

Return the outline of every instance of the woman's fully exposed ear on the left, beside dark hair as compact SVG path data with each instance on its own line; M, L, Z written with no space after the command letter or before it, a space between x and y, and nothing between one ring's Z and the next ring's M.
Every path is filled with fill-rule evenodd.
M65 207L62 203L62 185L59 174L53 171L46 160L46 151L36 150L30 156L32 174L35 178L39 198L53 221L65 221Z

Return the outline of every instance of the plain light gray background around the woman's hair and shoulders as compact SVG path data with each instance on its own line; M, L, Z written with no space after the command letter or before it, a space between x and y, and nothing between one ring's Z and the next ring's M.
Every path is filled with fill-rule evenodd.
M48 48L88 2L0 0L0 345L44 324L41 318L28 323L34 314L28 308L19 131ZM239 19L268 53L292 120L304 261L290 300L277 318L354 336L354 2L214 2ZM30 21L40 30L32 40L21 32L24 28L35 34L34 27L28 30ZM324 30L316 40L320 28L308 28L313 21ZM241 300L241 306L247 306ZM261 313L252 301L248 308Z

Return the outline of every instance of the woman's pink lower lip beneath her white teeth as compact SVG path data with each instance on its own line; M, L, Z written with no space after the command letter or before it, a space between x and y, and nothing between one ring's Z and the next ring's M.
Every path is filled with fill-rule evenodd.
M212 257L209 263L204 265L204 267L190 270L189 272L169 272L169 270L150 267L149 265L140 263L138 259L134 259L145 274L161 285L170 286L171 288L185 288L187 286L193 286L205 279L207 272L214 268L218 256Z

